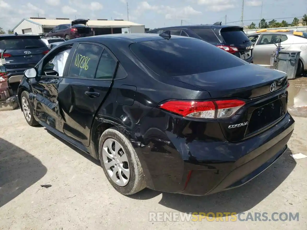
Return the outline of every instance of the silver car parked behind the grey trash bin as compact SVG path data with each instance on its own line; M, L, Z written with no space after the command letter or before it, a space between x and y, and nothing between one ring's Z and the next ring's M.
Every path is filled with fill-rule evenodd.
M281 39L282 51L301 51L297 67L297 76L307 71L307 33L293 30L259 30L257 33L247 35L254 44L254 64L270 67L271 54L273 54Z

